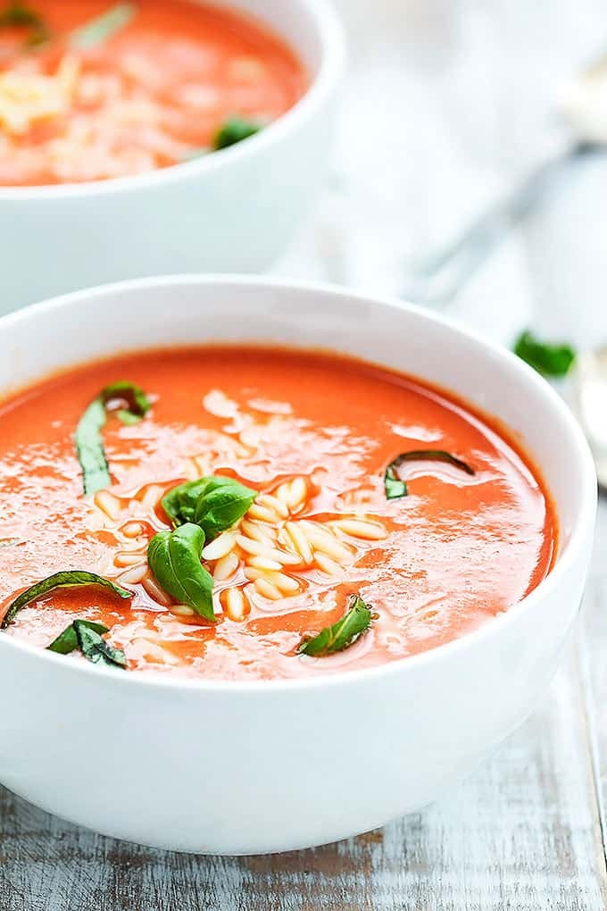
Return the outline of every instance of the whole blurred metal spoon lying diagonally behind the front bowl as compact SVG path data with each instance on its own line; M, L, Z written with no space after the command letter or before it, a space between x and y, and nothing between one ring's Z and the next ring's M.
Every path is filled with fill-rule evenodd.
M435 307L449 303L511 227L554 189L575 159L607 146L607 56L601 56L578 74L559 107L570 128L569 144L556 158L542 162L455 241L414 264L402 289L403 297Z

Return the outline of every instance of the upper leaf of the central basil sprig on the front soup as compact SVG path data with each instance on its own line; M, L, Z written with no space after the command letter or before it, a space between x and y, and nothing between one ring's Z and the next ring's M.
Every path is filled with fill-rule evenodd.
M162 507L174 526L185 522L199 525L208 542L238 522L256 496L257 490L231 477L215 475L173 487L162 497Z

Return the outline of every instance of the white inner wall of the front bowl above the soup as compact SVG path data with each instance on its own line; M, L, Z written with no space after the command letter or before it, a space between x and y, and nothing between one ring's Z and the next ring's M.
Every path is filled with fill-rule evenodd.
M441 386L497 418L540 467L560 520L560 552L592 514L588 447L531 368L428 312L346 291L184 276L66 295L0 321L0 394L121 351L209 342L325 348Z

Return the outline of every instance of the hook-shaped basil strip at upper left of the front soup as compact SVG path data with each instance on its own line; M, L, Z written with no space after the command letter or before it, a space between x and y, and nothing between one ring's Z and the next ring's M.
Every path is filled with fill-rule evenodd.
M122 402L126 407L116 411L123 424L137 424L147 415L151 403L147 395L133 383L119 381L102 389L76 427L76 451L82 468L83 485L86 494L94 494L111 483L107 467L101 431L106 425L107 404Z

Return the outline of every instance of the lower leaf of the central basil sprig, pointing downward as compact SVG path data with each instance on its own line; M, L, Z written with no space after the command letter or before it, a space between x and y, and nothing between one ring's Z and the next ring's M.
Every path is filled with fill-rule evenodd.
M213 577L200 563L205 533L187 522L175 531L160 531L149 542L147 563L158 585L200 617L215 621Z

